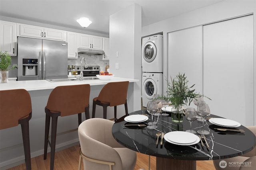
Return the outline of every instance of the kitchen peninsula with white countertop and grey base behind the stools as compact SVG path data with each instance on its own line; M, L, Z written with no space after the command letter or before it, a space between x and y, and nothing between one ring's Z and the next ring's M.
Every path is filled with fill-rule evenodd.
M136 79L117 78L112 80L82 80L82 81L66 81L66 82L49 82L47 80L28 80L28 81L10 81L0 84L0 90L26 89L31 97L32 102L32 118L29 121L30 129L30 151L31 158L42 155L44 152L44 129L45 129L45 112L44 107L47 104L48 97L52 90L57 86L90 84L90 117L92 117L92 99L97 97L102 87L108 82L129 81L128 87L128 111L134 111L134 82L139 82ZM69 96L66 96L69 98ZM76 102L75 98L70 98L70 105ZM13 103L15 107L15 103ZM122 117L124 106L117 107L117 117ZM113 113L113 114L112 114ZM96 117L103 118L103 109L101 106L96 106ZM108 107L108 119L114 117L114 108ZM85 120L84 113L82 121ZM58 119L56 151L62 147L69 147L77 144L78 133L78 117L71 115L60 117ZM1 143L1 167L8 168L20 164L24 161L24 150L22 144L22 135L20 125L13 128L3 129L0 134ZM50 147L48 147L48 152ZM47 158L50 160L50 157Z

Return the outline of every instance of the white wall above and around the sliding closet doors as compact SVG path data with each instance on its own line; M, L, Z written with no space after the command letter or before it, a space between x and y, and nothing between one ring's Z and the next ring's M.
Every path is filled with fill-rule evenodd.
M205 8L200 8L180 16L142 27L142 36L163 32L164 35L164 76L168 77L167 56L168 56L168 33L204 25L216 21L226 20L237 16L256 13L255 0L225 0ZM254 17L254 51L256 51L256 17ZM254 52L254 87L256 86L256 53ZM164 82L164 89L166 82ZM256 89L254 89L254 125L256 125Z

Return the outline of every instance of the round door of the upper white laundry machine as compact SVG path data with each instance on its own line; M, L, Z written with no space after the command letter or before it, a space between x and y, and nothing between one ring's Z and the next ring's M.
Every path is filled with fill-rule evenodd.
M147 42L142 49L142 56L148 63L154 61L156 53L156 45L152 42Z

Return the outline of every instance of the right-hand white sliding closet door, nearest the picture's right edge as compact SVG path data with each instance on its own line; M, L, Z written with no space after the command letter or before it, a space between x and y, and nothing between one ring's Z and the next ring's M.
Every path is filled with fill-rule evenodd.
M212 114L253 125L253 16L203 26L203 92Z

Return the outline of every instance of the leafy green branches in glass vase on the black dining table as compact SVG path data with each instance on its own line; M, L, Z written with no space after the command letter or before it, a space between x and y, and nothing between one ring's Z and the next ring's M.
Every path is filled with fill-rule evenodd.
M195 92L195 89L190 90L195 84L188 87L186 78L185 73L179 73L176 78L171 77L171 82L167 84L166 98L172 103L172 121L174 122L183 121L182 105L188 104L189 106L194 98L201 96Z

